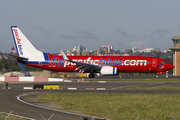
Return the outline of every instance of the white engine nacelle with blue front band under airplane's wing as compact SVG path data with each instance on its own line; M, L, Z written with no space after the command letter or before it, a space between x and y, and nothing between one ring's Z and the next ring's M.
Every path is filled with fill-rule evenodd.
M117 68L110 66L103 66L100 73L101 75L117 75Z

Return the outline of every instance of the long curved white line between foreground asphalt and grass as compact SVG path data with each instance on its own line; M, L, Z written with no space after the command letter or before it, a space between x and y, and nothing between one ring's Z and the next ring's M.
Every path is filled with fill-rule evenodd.
M36 92L36 93L37 93L37 92ZM28 94L25 93L25 94L16 96L16 99L17 99L18 101L24 103L24 104L31 105L31 106L38 107L38 108L42 108L42 109L46 109L46 110L51 110L51 111L55 111L55 112L61 112L61 113L71 114L71 115L75 115L75 116L83 116L83 117L90 117L90 118L93 118L93 117L94 117L94 116L87 116L87 115L82 115L82 114L76 114L76 113L71 113L71 112L65 112L65 111L61 111L61 110L55 110L55 109L51 109L51 108L47 108L47 107L35 105L35 104L32 104L32 103L23 101L23 100L21 99L21 97L26 96L26 95L28 95ZM97 119L104 119L104 118L98 118L98 117L96 117L96 118L97 118ZM107 119L107 120L108 120L108 119Z

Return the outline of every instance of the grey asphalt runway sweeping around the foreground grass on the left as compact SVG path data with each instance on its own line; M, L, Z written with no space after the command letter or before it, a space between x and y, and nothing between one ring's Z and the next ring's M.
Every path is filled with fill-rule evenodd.
M60 89L58 90L24 90L23 87L32 87L34 84L59 84ZM80 117L85 117L83 115L75 115L64 112L53 111L49 109L43 109L35 106L31 106L22 103L16 99L17 96L22 94L36 95L33 93L45 93L45 92L56 92L56 93L77 93L77 92L98 92L98 93L125 93L125 94L180 94L180 90L136 90L136 87L154 88L161 86L176 86L180 85L180 80L178 82L106 82L99 83L95 82L9 82L9 87L11 89L1 89L0 90L0 111L9 113L13 111L13 114L42 120L44 118L48 119L53 113L54 116L51 120L81 120ZM3 87L3 83L0 83ZM68 88L77 88L74 90ZM87 89L89 88L89 89ZM98 89L99 88L99 89ZM104 88L104 89L100 89ZM97 120L97 119L95 119Z

